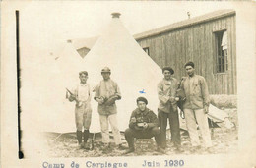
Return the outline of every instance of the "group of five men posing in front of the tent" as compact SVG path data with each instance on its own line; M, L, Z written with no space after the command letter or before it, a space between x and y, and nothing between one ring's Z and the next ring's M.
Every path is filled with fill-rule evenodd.
M209 109L209 92L205 78L195 74L193 62L184 66L187 76L179 82L172 77L174 70L171 67L162 68L163 79L158 84L159 107L158 116L147 108L148 100L138 97L137 108L132 112L129 128L125 130L125 140L128 148L122 145L120 131L118 129L116 100L121 99L118 84L110 79L111 71L108 67L101 70L103 80L96 85L94 99L98 103L99 121L102 134L103 150L110 148L109 130L110 124L113 138L118 149L127 149L124 154L135 151L134 138L150 139L155 137L157 151L165 153L166 127L169 121L171 141L176 152L183 152L180 139L180 126L177 104L184 112L186 126L190 137L191 150L194 152L201 148L197 126L200 129L204 142L204 149L213 152L207 113ZM92 119L90 85L87 84L88 73L79 73L80 84L73 89L69 101L76 101L75 118L77 128L77 140L79 146L88 149L89 129ZM182 92L184 96L179 96ZM84 130L83 130L84 129ZM83 132L84 131L84 132ZM84 141L82 141L84 137Z

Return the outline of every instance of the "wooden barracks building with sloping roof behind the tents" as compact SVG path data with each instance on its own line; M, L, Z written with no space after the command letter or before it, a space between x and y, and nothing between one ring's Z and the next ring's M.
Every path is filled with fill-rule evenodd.
M185 76L184 64L193 61L196 73L206 78L210 94L237 93L234 10L215 11L134 38L160 68L171 66L175 78ZM83 53L83 48L77 50Z

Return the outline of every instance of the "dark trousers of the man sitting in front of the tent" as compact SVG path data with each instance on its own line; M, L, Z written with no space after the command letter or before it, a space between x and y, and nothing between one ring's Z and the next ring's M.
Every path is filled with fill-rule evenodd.
M129 128L125 130L124 136L129 148L134 148L134 138L150 139L155 137L157 145L160 145L160 129L157 127L145 131L137 131Z

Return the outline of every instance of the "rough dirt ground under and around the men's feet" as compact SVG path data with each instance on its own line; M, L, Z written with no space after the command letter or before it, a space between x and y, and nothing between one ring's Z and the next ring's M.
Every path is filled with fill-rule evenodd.
M238 121L237 121L237 110L233 109L225 109L224 110L228 115L230 120L235 124L235 128L226 129L219 123L221 127L213 128L212 130L212 141L213 141L213 154L220 153L233 153L237 149L238 144ZM77 144L75 133L64 134L60 137L59 134L56 133L48 133L45 134L47 138L47 144L49 146L49 156L50 157L109 157L109 156L124 156L123 152L125 150L119 150L113 143L113 139L111 142L111 147L108 152L104 152L102 150L102 144L100 142L100 135L96 134L94 140L94 149L86 150L80 149ZM58 137L58 138L57 138ZM57 138L57 139L56 139ZM111 138L111 137L110 137ZM195 154L191 153L191 145L189 141L188 133L184 130L181 130L181 145L184 149L182 153L175 153L173 144L169 140L169 131L167 135L167 148L165 149L166 153L162 154L156 150L156 144L154 140L139 140L135 142L136 151L134 153L130 153L126 156L138 156L138 155L173 155L173 154ZM122 134L123 145L128 146L126 141L124 140L124 136ZM198 150L196 154L209 154L203 148Z

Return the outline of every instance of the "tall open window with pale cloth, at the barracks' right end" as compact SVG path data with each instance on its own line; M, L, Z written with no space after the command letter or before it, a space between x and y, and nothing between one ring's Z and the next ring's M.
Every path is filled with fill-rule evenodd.
M215 32L215 39L216 39L216 73L224 73L228 70L226 30Z

